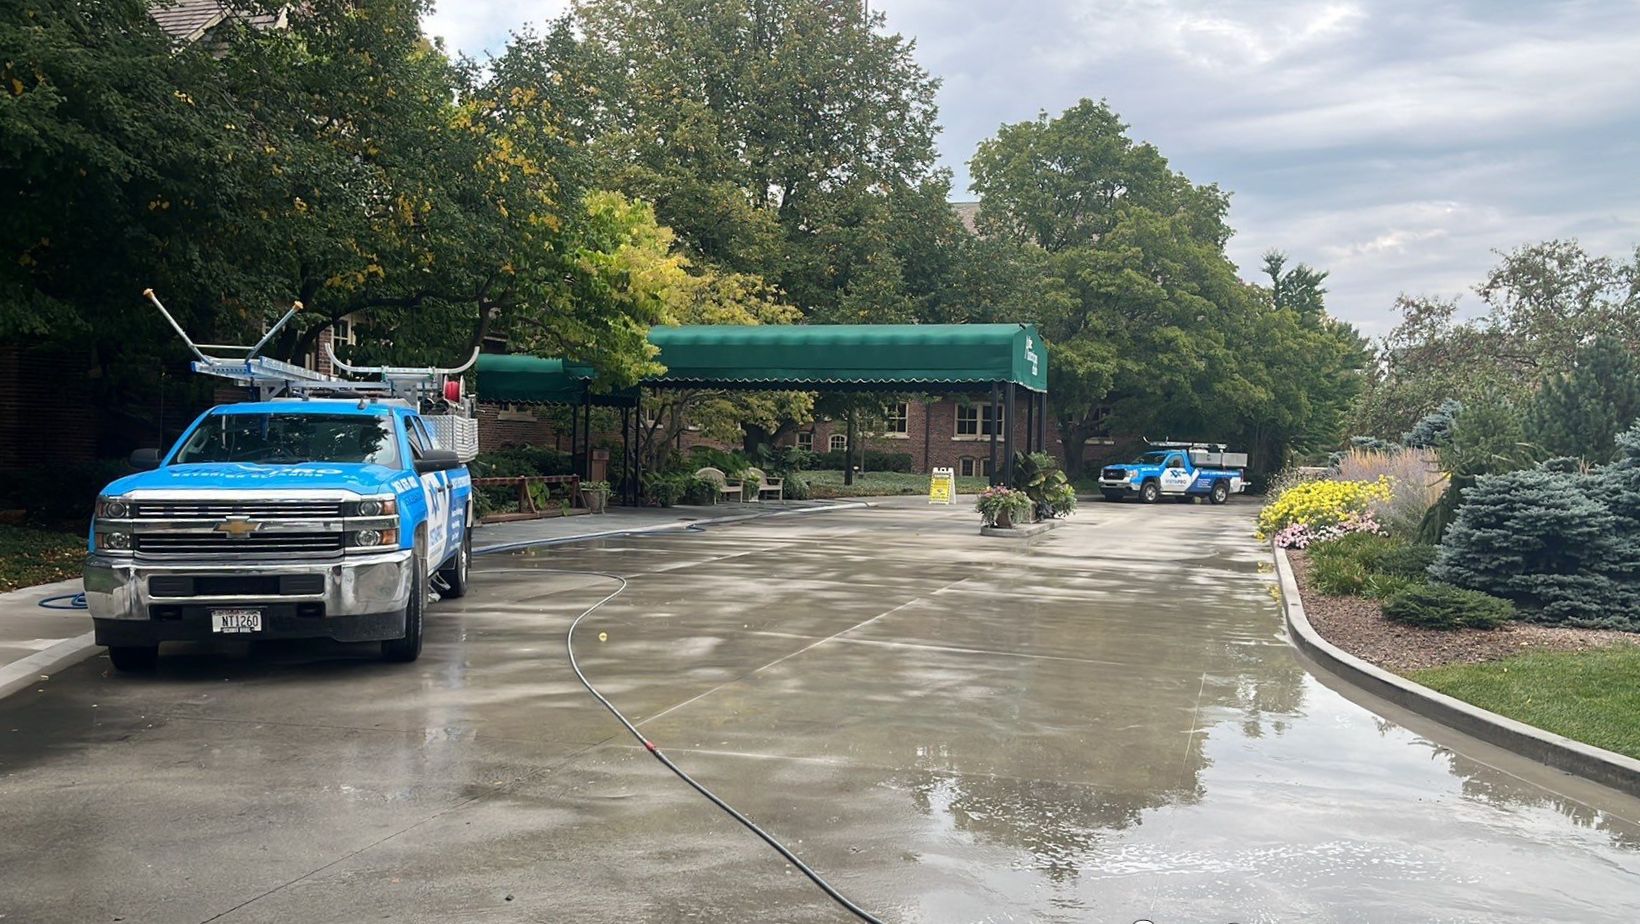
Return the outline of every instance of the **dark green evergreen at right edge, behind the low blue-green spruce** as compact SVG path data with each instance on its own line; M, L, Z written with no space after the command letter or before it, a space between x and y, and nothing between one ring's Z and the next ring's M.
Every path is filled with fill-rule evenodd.
M1640 363L1620 340L1579 346L1571 371L1543 382L1527 404L1528 438L1551 456L1602 464L1615 438L1640 419Z

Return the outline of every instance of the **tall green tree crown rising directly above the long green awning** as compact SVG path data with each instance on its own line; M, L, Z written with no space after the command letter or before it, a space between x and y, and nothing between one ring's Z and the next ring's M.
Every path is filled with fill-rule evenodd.
M933 80L912 43L823 0L579 0L615 62L595 149L687 253L820 320L910 318L951 235ZM943 231L930 226L943 223ZM910 233L907 233L910 231Z

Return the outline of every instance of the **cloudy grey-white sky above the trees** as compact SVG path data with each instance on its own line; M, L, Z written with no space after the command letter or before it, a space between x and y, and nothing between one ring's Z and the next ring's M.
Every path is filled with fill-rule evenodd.
M443 0L482 57L564 0ZM1186 176L1233 192L1243 276L1281 248L1368 333L1397 294L1465 294L1494 249L1640 245L1633 0L871 0L945 80L940 149L1104 97ZM1476 299L1465 302L1474 309Z

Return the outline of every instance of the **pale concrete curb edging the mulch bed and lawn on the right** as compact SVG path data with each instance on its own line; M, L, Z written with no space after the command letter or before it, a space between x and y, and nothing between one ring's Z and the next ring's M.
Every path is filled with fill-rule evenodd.
M1286 612L1292 643L1323 668L1425 719L1433 719L1466 735L1512 750L1520 757L1553 766L1555 770L1592 780L1630 796L1640 796L1640 760L1574 742L1565 735L1545 732L1543 729L1496 712L1487 712L1445 693L1412 683L1401 675L1389 673L1327 642L1310 625L1309 617L1304 615L1304 601L1299 599L1299 584L1292 578L1292 565L1287 561L1287 551L1276 548L1274 543L1271 543L1271 550L1276 553L1276 573L1281 578L1281 604Z

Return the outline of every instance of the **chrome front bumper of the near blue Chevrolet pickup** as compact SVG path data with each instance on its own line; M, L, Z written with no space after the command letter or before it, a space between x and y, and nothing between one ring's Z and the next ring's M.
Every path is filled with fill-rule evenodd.
M253 606L323 604L325 615L397 612L410 602L415 581L412 550L380 555L348 555L321 561L143 561L133 556L97 555L85 560L85 606L92 619L149 619L153 606ZM149 578L230 578L321 574L323 591L279 596L187 596L149 592Z

